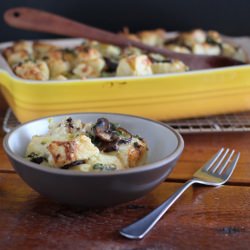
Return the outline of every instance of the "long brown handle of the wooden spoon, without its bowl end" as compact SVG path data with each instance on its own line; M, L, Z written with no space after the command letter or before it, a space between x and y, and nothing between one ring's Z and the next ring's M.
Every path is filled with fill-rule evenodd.
M149 52L178 58L178 53L148 46L141 42L130 40L122 35L94 28L59 15L33 8L18 7L9 9L5 12L4 19L10 26L20 29L41 31L69 37L83 37L103 43L114 44L119 47L134 46ZM183 54L181 54L181 58L183 58Z

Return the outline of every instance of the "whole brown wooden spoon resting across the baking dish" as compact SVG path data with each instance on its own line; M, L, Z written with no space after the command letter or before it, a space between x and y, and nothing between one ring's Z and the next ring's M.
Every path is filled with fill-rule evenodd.
M130 40L123 35L101 30L68 18L33 8L18 7L5 12L5 21L16 28L40 31L69 37L83 37L119 47L134 46L147 52L158 53L169 58L183 61L190 69L208 69L243 65L245 63L222 56L205 56L183 54L165 48L156 48L138 41Z

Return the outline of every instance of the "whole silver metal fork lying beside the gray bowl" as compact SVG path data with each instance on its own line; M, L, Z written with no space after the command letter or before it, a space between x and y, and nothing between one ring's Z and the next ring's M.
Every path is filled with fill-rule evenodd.
M129 239L142 239L192 184L219 186L224 184L232 175L240 158L240 153L234 155L234 150L221 148L203 167L196 171L193 178L188 180L181 188L171 195L159 207L133 224L122 228L120 234Z

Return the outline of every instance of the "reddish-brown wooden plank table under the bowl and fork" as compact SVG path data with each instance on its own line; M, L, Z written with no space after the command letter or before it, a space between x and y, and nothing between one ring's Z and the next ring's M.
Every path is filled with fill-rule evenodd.
M1 124L5 109L1 100ZM185 135L184 140L175 170L155 190L126 204L93 210L40 196L15 173L1 145L0 249L249 249L250 133ZM222 146L241 152L226 185L189 188L143 240L119 235L120 228L168 198Z

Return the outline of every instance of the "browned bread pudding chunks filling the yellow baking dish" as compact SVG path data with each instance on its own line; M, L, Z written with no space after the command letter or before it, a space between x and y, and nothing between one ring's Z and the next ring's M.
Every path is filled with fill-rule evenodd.
M167 48L180 53L221 55L246 62L244 50L223 40L216 31L200 29L180 32L169 37L163 29L124 32L130 39L150 46ZM111 44L83 40L75 47L64 48L44 42L18 41L3 50L13 72L29 80L69 80L110 76L148 76L185 72L182 61L159 54L146 53L138 48L119 48Z

